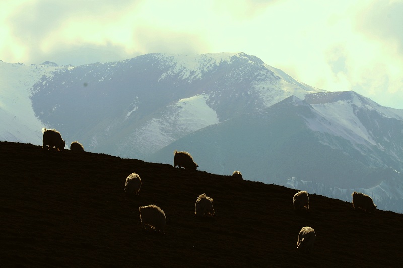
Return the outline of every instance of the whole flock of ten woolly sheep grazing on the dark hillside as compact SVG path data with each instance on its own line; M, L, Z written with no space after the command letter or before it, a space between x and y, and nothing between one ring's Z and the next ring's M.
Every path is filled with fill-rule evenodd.
M49 146L49 149L56 148L61 151L65 147L65 140L61 138L61 134L54 130L42 129L43 132L43 149ZM84 151L83 145L78 141L74 141L70 145L70 150L81 152ZM198 165L194 162L193 157L188 152L174 151L174 167L184 167L196 170ZM239 171L234 171L232 176L242 180L242 174ZM124 184L124 192L127 195L138 195L142 185L141 178L136 173L131 173L126 178ZM376 209L372 198L363 193L354 192L353 207L355 210L362 210L365 212L373 212ZM293 206L296 211L309 211L309 196L306 191L299 191L293 196ZM201 217L214 217L213 199L206 196L205 193L199 195L194 205L195 215ZM140 222L142 229L148 230L147 227L157 232L163 233L166 224L166 216L164 211L156 205L148 205L139 207ZM310 253L315 242L315 230L309 226L302 227L298 234L297 251Z

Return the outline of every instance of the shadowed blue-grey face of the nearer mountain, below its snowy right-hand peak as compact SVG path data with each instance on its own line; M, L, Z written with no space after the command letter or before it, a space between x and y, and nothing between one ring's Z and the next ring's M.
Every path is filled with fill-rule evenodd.
M372 193L379 208L402 211L398 205L401 191L389 190L402 187L403 175L396 171L401 166L392 168L380 160L375 162L374 153L378 158L383 157L383 161L393 163L388 154L374 146L368 147L367 143L353 146L352 141L342 136L315 131L310 122L318 115L312 105L290 96L264 111L195 131L146 159L170 163L171 151L187 150L200 170L216 174L240 170L248 180L280 185L294 185L288 180L297 177L312 182L305 184L309 191L342 200L349 198L343 193L347 189L360 189ZM390 207L390 199L399 201Z

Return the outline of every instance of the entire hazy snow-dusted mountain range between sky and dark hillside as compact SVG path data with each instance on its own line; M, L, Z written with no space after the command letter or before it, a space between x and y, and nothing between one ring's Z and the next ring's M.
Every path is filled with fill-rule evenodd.
M247 180L342 200L360 191L380 209L403 211L403 110L319 90L255 56L147 54L0 68L13 74L0 110L3 140L41 144L47 126L69 145L124 158L172 164L173 151L184 150L199 170L239 170ZM16 84L24 105L14 118Z

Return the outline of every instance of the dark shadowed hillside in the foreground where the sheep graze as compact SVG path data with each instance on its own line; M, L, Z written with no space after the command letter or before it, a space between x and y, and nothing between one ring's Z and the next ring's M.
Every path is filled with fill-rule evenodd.
M295 189L106 154L0 142L0 155L5 267L400 264L401 214L313 193L310 212L296 213ZM128 197L132 172L142 187ZM202 193L214 199L214 219L194 215ZM138 208L150 204L166 214L165 235L141 229ZM317 236L310 255L296 251L304 226Z

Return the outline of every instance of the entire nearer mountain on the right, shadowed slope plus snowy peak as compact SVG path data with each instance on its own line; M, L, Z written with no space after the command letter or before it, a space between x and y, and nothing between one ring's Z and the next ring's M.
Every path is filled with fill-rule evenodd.
M346 201L351 200L349 192L359 191L373 196L380 209L403 211L403 174L397 171L403 168L403 121L374 112L375 103L357 93L332 94L348 99L339 96L326 102L327 109L316 109L317 103L290 96L264 110L195 131L146 160L171 163L173 150L186 150L199 169L210 173L240 170L246 180ZM329 112L344 103L350 105ZM368 115L376 123L365 121Z

